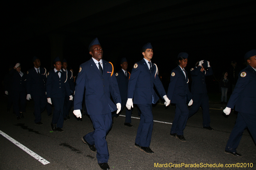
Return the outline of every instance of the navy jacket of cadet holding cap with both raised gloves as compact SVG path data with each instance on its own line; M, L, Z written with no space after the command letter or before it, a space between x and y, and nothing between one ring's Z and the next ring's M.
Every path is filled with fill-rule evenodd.
M213 74L212 68L208 67L208 70L200 71L202 69L201 66L197 68L193 68L190 70L190 74L192 77L192 86L191 93L207 93L206 84L205 84L205 76L210 76Z

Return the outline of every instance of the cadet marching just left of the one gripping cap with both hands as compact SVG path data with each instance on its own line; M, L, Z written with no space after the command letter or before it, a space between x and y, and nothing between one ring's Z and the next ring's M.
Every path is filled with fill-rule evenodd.
M167 92L167 97L171 100L171 103L176 104L170 135L182 142L187 142L183 136L189 113L187 102L189 101L188 106L193 104L193 95L188 89L188 73L185 70L188 64L188 53L180 53L177 64L178 66L171 72L171 80Z

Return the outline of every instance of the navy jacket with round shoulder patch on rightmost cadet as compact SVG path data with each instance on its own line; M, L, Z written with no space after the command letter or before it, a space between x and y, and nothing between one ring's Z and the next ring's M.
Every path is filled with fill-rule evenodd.
M256 115L256 71L251 66L248 65L240 71L227 107L235 107L237 112Z

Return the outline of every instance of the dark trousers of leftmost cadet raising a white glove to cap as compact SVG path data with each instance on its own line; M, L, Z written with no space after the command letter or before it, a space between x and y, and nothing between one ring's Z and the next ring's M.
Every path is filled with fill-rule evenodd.
M27 96L26 91L12 92L13 110L16 116L20 116L20 112L26 112L26 104L27 104L26 96Z

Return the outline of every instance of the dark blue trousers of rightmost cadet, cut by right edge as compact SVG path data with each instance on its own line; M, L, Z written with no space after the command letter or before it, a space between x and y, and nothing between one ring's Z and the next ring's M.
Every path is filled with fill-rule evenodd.
M225 150L236 152L236 148L243 136L244 129L248 128L254 142L256 142L256 115L238 112L236 124L228 138Z

